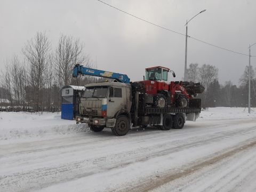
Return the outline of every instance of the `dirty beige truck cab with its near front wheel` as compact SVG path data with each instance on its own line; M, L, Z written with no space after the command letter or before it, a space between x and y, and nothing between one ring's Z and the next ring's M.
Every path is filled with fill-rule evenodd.
M130 84L91 83L85 86L84 94L81 96L80 115L76 117L77 124L87 123L95 132L102 131L104 127L115 127L117 135L122 135L126 130L129 131L132 105ZM122 117L121 120L120 117Z

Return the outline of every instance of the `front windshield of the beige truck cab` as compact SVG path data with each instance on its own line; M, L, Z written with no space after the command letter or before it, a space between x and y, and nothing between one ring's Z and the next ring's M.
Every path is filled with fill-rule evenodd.
M86 87L83 98L106 98L108 86Z

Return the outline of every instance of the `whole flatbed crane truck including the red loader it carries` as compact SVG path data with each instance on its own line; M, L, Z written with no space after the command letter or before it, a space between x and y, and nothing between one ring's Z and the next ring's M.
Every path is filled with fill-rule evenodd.
M87 123L94 132L111 128L122 136L132 126L157 126L161 130L182 129L186 121L195 121L201 113L201 100L194 98L204 91L200 83L170 82L166 67L146 69L146 79L130 82L125 74L76 65L73 77L92 75L114 82L91 83L79 102L76 123Z

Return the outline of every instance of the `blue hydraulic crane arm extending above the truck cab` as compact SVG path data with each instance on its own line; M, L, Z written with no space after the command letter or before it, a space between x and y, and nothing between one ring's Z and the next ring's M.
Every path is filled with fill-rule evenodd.
M103 71L98 69L91 69L84 67L83 65L76 64L73 68L73 77L81 75L92 75L97 77L106 77L111 79L116 79L116 81L121 83L130 83L130 78L125 74L118 74L109 71Z

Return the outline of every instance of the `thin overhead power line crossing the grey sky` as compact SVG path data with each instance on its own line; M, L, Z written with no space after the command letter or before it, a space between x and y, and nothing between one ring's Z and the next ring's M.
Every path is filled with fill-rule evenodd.
M115 6L113 6L113 5L110 5L110 4L106 3L106 2L103 2L103 1L101 1L101 0L97 0L97 1L99 1L99 2L101 2L101 3L103 3L103 4L105 4L105 5L108 5L108 6L112 7L113 9L116 9L116 10L118 10L118 11L121 11L121 12L127 14L127 15L130 15L131 17L134 17L134 18L136 18L136 19L139 19L139 20L141 20L141 21L144 21L144 22L147 22L147 23L149 23L149 24L151 24L151 25L154 25L154 26L156 26L156 27L159 27L159 28L162 28L162 29L171 31L172 33L175 33L175 34L179 34L179 35L182 35L182 36L186 36L185 34L179 33L179 32L177 32L177 31L168 29L168 28L166 28L166 27L159 26L159 25L157 25L156 23L153 23L153 22L147 21L147 20L145 20L145 19L139 18L139 17L137 17L137 16L135 16L135 15L133 15L133 14L131 14L131 13L128 13L128 12L126 12L126 11L123 11L123 10L121 10L121 9L118 9L117 7L115 7ZM194 39L195 41L198 41L198 42L201 42L201 43L210 45L210 46L214 46L214 47L217 47L217 48L222 49L222 50L225 50L225 51L229 51L229 52L233 52L233 53L237 53L237 54L249 56L249 54L245 54L245 53L241 53L241 52L237 52L237 51L232 51L232 50L226 49L226 48L224 48L224 47L220 47L220 46L218 46L218 45L214 45L214 44L211 44L211 43L207 43L207 42L202 41L202 40L200 40L200 39L197 39L197 38L195 38L195 37L191 37L191 36L188 36L188 37L190 37L191 39ZM256 57L256 56L251 55L251 57Z

